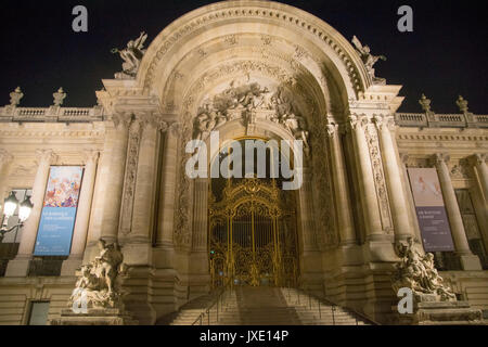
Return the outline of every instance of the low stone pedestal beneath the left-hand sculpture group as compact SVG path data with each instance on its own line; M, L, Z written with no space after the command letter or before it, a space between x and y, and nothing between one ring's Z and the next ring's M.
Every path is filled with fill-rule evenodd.
M50 325L138 325L139 322L127 311L120 309L89 309L88 313L75 313L72 309L61 311L61 318L53 319Z

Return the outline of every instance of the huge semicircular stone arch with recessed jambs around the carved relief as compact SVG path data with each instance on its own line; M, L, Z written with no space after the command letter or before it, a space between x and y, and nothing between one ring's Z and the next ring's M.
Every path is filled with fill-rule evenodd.
M282 90L291 95L293 108L308 125L311 153L297 204L304 211L300 268L304 282L321 285L320 250L338 242L325 124L344 118L349 99L357 99L371 83L367 76L354 49L333 28L303 11L269 1L230 1L196 10L153 41L134 87L159 100L163 113L179 121L172 241L184 258L181 273L197 273L200 287L209 281L201 266L208 258L207 206L195 204L206 201L208 182L184 176L185 143L195 139L195 119L208 99L232 85L258 83L271 94ZM227 127L237 134L241 120L234 120L223 125L222 131ZM265 120L244 126L239 136L273 126ZM275 131L281 138L290 137L280 127Z

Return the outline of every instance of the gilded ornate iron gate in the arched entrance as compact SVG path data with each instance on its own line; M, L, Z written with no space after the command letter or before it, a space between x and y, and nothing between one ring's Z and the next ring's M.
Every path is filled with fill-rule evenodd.
M295 286L298 252L293 198L271 182L227 181L211 197L209 249L213 286ZM213 195L211 195L213 196Z

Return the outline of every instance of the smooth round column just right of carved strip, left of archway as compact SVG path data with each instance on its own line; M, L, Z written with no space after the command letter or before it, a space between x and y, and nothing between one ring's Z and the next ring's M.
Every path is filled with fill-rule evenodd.
M124 236L126 240L124 249L125 261L128 265L149 265L155 218L158 153L156 144L158 132L166 131L168 126L158 115L152 113L138 114L137 117L141 121L142 132L136 168L132 227L127 235L120 235L120 237Z

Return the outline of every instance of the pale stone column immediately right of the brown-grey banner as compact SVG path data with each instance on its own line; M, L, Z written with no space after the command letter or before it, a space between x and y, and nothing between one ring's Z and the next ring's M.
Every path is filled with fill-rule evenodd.
M440 188L442 190L444 202L446 204L447 215L452 231L455 253L461 260L463 270L481 270L479 258L471 253L470 244L467 243L463 219L461 217L458 200L455 198L454 189L447 166L449 159L450 157L448 155L440 153L433 157L439 175Z

